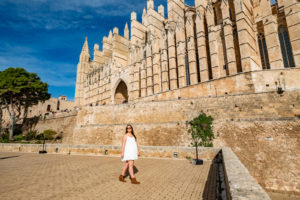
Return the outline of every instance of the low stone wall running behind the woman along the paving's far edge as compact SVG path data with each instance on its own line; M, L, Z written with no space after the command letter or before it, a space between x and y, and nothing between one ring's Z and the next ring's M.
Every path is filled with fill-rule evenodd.
M38 153L43 149L42 144L10 144L0 143L0 152L26 152ZM120 156L121 147L111 145L71 145L71 144L45 144L47 153L72 155L109 155ZM139 146L141 157L178 158L186 159L195 156L195 148L175 146ZM213 160L219 148L199 148L199 158ZM177 156L174 157L174 153Z

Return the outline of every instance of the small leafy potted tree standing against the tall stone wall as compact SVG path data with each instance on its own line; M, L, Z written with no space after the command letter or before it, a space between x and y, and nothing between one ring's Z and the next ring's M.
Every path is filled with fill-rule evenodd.
M205 113L200 114L198 117L189 121L190 128L188 133L192 136L191 145L196 147L196 159L198 161L198 146L212 147L214 134L212 131L211 116L206 116Z

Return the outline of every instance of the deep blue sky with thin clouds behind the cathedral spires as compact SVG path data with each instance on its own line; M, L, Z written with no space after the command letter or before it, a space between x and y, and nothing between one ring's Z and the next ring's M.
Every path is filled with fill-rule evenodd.
M167 0L154 0L166 8ZM186 4L194 5L193 0ZM147 0L1 0L0 70L23 67L49 84L53 97L74 100L76 70L85 36L90 52L109 30L123 34L130 13L141 21Z

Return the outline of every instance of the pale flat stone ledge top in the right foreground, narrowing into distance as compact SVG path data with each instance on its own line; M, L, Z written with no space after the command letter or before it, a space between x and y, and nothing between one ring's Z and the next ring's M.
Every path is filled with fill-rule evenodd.
M228 147L222 148L223 162L233 200L270 200L268 194L250 175L248 169Z

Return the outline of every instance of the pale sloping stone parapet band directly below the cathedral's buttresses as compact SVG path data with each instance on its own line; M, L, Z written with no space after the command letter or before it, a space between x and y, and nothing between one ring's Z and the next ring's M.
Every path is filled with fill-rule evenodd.
M277 91L278 88L282 88L284 91L294 91L300 89L297 81L297 77L299 76L300 68L243 72L213 81L205 81L192 86L157 93L136 99L135 101L160 101L178 98L190 99L198 97L252 94L274 92Z

